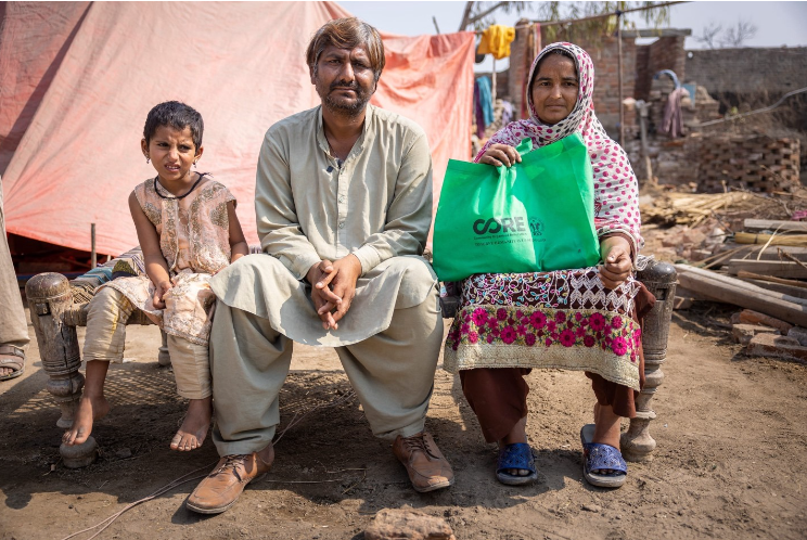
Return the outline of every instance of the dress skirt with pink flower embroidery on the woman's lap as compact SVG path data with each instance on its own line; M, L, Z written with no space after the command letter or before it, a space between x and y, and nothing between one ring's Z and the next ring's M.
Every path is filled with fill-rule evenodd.
M643 373L632 277L607 291L597 267L476 274L462 282L444 369L579 370L638 391Z

